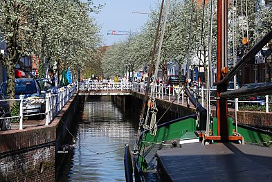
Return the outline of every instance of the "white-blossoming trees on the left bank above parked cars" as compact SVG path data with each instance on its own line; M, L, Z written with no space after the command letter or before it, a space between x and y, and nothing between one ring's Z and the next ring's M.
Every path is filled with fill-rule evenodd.
M64 65L72 72L84 69L100 46L100 28L90 17L100 8L92 0L0 1L0 34L7 50L0 54L0 62L10 73L8 84L12 85L12 69L24 55L35 55L44 65L57 62L58 69ZM40 77L43 71L39 69ZM12 87L8 87L8 98L15 97Z

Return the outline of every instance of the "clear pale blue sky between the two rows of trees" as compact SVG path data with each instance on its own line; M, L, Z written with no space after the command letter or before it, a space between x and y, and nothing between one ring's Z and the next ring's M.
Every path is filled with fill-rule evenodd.
M147 22L147 14L133 12L150 12L156 8L160 0L93 0L94 5L104 4L99 14L91 15L101 26L104 38L103 46L109 46L126 39L125 35L107 35L108 30L140 32L140 28Z

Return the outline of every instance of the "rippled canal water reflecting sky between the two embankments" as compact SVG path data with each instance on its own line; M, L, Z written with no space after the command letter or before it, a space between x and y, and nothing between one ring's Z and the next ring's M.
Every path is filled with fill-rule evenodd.
M134 143L137 116L138 109L118 107L110 97L89 97L57 181L125 181L125 143Z

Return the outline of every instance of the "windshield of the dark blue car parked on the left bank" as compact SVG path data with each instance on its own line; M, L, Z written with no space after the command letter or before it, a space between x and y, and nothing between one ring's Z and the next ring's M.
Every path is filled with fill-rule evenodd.
M6 82L3 83L1 91L6 93L7 91L7 84ZM15 95L24 95L24 94L33 94L37 93L37 87L35 85L34 80L19 80L15 81Z

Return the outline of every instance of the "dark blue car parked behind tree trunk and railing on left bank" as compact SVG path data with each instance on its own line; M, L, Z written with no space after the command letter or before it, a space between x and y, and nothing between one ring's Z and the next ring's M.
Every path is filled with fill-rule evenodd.
M7 82L1 84L1 92L6 95ZM46 91L42 91L39 82L35 78L16 78L15 79L15 98L24 95L27 98L45 98ZM34 114L43 113L45 111L45 103L31 104L24 100L24 113Z

